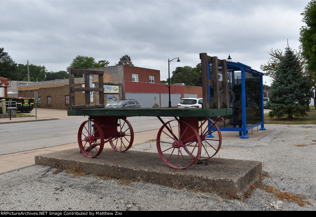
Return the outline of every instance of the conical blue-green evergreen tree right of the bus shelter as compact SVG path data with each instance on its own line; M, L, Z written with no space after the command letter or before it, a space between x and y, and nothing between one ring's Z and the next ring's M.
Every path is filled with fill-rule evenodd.
M267 107L271 118L288 118L306 115L309 103L310 83L302 75L298 57L289 47L280 57L274 81L272 82Z

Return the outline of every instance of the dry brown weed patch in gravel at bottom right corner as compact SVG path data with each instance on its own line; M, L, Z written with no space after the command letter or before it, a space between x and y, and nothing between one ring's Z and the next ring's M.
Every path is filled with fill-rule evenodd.
M307 198L300 196L300 194L282 192L278 190L277 188L270 185L264 185L263 187L259 187L259 189L265 190L266 192L272 194L273 196L279 198L280 200L283 200L286 202L295 202L301 207L304 207L305 204L308 204L308 205L311 204L311 202L305 201Z

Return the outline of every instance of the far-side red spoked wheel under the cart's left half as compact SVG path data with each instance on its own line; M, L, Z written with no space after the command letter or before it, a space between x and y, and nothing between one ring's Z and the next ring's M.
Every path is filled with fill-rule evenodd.
M116 137L110 137L109 142L115 151L123 152L131 148L134 141L134 131L131 123L125 118L119 119Z

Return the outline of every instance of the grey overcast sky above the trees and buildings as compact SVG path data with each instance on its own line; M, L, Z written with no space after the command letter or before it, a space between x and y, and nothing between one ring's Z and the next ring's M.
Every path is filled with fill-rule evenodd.
M77 55L115 65L127 54L135 66L195 67L199 53L260 71L271 48L298 49L309 1L3 1L0 47L16 63L66 70ZM264 76L270 85L270 78Z

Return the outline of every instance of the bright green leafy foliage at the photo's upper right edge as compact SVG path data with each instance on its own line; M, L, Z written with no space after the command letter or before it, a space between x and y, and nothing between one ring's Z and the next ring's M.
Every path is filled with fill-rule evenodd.
M301 15L306 23L300 31L302 55L307 59L307 69L316 73L316 0L310 1Z

